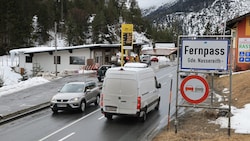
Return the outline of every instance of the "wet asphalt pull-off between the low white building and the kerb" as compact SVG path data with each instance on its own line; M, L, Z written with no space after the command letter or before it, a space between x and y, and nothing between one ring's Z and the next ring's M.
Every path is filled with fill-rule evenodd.
M38 104L49 102L51 97L57 93L57 90L63 84L70 81L85 81L92 79L97 81L95 74L76 74L51 82L27 88L12 94L0 97L0 114L3 116L15 113L23 109L27 109Z

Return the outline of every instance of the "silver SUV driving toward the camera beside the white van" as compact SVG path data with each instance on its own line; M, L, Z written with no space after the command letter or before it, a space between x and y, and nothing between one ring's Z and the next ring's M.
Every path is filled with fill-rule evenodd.
M100 88L96 82L70 82L66 83L50 101L50 108L54 113L58 110L77 109L85 111L87 105L99 105Z

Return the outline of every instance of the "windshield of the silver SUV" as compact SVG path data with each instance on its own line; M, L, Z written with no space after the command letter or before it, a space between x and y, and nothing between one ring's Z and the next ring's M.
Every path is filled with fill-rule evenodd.
M60 90L61 93L79 93L83 92L84 84L66 84Z

